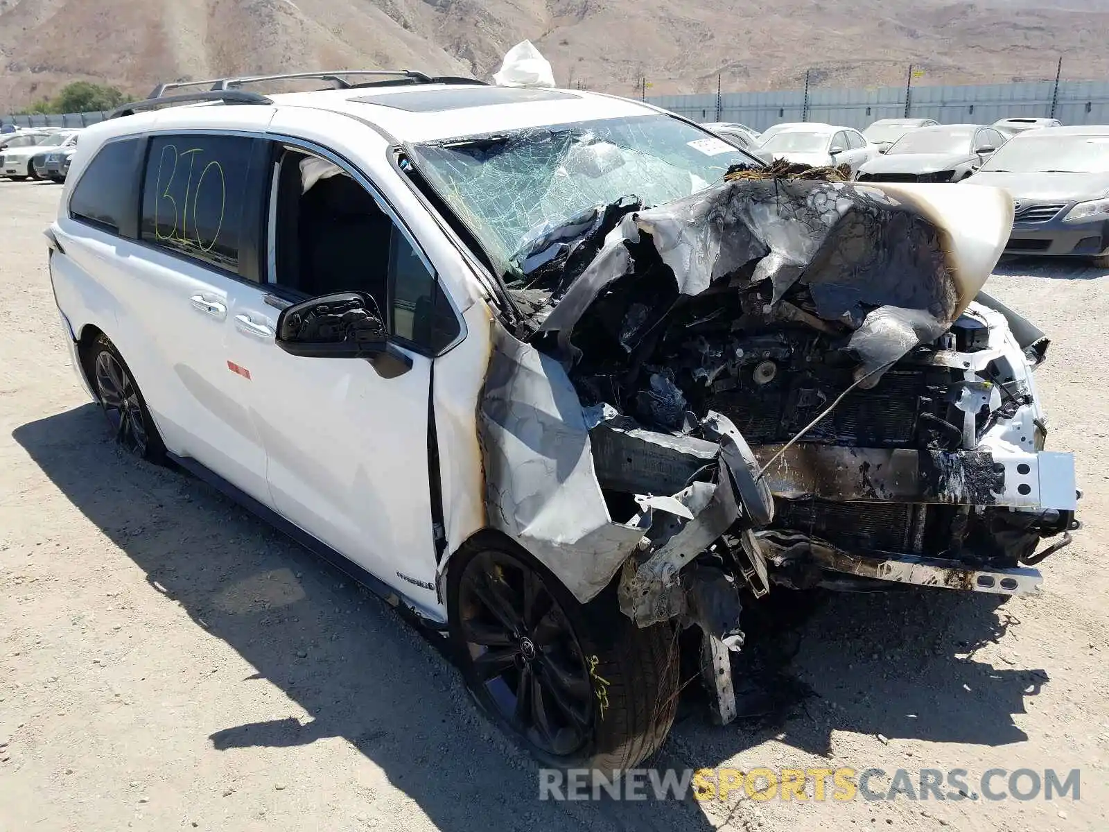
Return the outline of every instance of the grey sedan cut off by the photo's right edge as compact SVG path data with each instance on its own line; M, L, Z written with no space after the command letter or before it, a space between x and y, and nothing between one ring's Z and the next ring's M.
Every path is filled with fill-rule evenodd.
M1017 133L966 184L1013 195L1006 253L1080 255L1109 267L1109 125Z

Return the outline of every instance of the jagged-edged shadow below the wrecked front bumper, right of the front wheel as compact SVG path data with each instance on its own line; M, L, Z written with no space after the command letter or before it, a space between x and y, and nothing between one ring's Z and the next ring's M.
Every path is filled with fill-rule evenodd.
M1004 600L939 589L780 591L747 615L746 646L733 663L740 741L695 719L675 737L685 734L704 759L772 739L825 757L834 731L887 741L1024 741L1013 714L1026 711L1025 698L1039 693L1047 672L995 668L975 656L1019 625Z

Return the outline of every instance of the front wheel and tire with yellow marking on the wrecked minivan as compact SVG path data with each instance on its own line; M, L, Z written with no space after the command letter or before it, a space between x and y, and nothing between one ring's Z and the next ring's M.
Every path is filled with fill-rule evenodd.
M459 551L447 579L450 638L478 704L556 768L633 768L678 707L678 637L638 628L609 587L580 605L515 545Z

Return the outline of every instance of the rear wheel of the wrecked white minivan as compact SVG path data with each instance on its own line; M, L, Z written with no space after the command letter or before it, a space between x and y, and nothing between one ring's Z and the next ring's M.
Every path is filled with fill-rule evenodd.
M88 349L85 372L116 444L150 463L165 461L165 445L120 351L101 333Z

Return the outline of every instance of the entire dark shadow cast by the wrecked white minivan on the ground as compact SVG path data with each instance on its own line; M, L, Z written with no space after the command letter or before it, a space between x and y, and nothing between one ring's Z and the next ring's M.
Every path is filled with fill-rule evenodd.
M227 726L211 734L214 748L344 738L448 832L471 829L475 818L487 829L713 828L691 800L539 801L537 765L477 714L430 640L204 484L123 456L94 406L13 437L143 569L151 591L180 602L255 668L251 679L311 714ZM714 728L690 696L653 765L712 767L775 737L824 753L834 730L989 745L1024 739L1010 714L1046 673L962 656L1008 625L989 597L772 596L749 616L736 663L747 718Z

